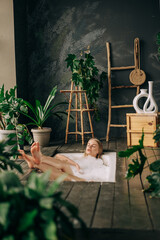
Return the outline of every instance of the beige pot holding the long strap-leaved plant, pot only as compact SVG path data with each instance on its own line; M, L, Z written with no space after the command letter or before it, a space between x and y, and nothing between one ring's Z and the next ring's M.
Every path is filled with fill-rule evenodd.
M34 142L39 142L39 145L41 147L47 147L49 145L51 131L52 131L51 128L46 127L42 129L38 128L31 129Z

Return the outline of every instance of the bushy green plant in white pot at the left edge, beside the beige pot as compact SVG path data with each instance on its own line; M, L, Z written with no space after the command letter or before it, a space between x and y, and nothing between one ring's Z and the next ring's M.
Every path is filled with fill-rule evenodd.
M24 124L19 124L20 112L27 113L28 108L22 98L16 97L16 86L9 91L4 91L4 84L0 88L0 141L6 139L10 134L15 137L16 145L23 145L27 140L32 143L31 135Z

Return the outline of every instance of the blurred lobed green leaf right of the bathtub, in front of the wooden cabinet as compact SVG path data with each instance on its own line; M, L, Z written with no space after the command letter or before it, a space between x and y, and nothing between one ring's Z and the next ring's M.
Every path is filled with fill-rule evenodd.
M125 151L120 151L118 153L119 157L127 157L129 158L133 153L137 152L137 156L132 159L132 163L128 165L128 171L126 173L126 178L134 178L137 174L142 174L144 164L147 160L146 156L142 153L143 146L143 140L144 140L144 133L142 133L142 137L139 140L139 145L135 145L131 148L128 148Z

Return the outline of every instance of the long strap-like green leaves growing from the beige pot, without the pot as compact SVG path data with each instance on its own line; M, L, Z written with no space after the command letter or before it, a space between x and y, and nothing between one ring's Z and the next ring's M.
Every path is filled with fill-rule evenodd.
M63 111L55 111L56 107L62 104L67 104L67 102L59 102L57 104L54 104L52 106L51 102L55 98L55 94L57 92L57 86L55 86L52 91L50 92L46 103L44 106L41 105L39 100L35 101L35 107L31 105L28 101L24 101L26 106L31 110L32 116L30 116L27 112L22 111L21 113L24 114L26 117L28 117L30 120L32 120L31 123L28 123L27 125L35 125L39 129L43 127L44 122L51 116L51 115L56 115L60 119L61 116L59 114L66 114L66 112Z

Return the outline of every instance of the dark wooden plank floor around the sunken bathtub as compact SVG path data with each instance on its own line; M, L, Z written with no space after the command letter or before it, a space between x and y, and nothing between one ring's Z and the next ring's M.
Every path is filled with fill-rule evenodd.
M121 151L126 149L126 140L103 141L104 151ZM26 148L28 150L28 148ZM44 154L53 156L55 153L83 152L81 143L57 143L42 149ZM160 150L144 149L152 162ZM29 174L27 164L18 160L24 175ZM59 188L63 197L79 209L80 217L85 221L89 236L87 239L132 240L160 239L160 199L151 199L142 189L147 184L144 179L149 175L145 167L142 180L139 176L129 182L124 178L128 160L117 157L115 183L98 182L63 182ZM77 226L77 239L83 240Z

